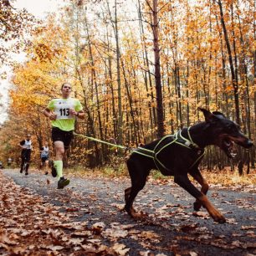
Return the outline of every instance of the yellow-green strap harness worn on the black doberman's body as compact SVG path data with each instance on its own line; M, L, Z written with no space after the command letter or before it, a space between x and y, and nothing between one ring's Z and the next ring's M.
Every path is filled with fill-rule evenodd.
M164 168L166 171L170 172L170 170L157 158L157 155L163 150L165 149L167 146L172 145L173 143L179 144L181 146L185 146L190 150L193 151L197 151L197 159L196 161L193 162L192 166L195 166L195 164L197 163L197 161L199 161L202 156L204 156L204 150L202 148L200 148L196 143L194 143L192 141L192 137L190 135L190 130L191 127L187 128L187 135L189 137L189 140L185 137L182 136L182 130L177 131L177 133L175 133L174 135L168 135L168 136L164 136L161 138L160 141L158 141L158 143L156 144L155 148L153 151L148 150L144 147L139 146L137 149L133 150L132 152L136 153L136 154L140 154L142 156L146 156L146 157L151 157L153 159L153 161L156 164L157 169L159 170L159 167L161 166L162 168ZM172 141L167 143L166 145L163 145L161 147L158 148L158 146L165 141L167 138L172 138ZM192 168L192 166L189 167L189 169Z

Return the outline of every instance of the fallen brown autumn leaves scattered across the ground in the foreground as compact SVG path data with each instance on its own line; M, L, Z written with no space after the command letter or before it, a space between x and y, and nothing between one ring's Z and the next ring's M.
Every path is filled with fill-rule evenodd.
M197 246L212 246L222 250L235 248L246 249L255 252L255 243L244 241L240 238L255 238L254 225L242 225L231 236L214 234L210 228L203 226L203 222L211 222L205 210L192 212L189 196L184 192L172 192L177 203L167 201L159 194L156 195L149 189L143 192L142 197L136 200L136 207L144 211L150 208L151 212L145 219L137 222L116 222L118 216L125 214L123 219L129 218L122 211L122 190L109 192L105 198L99 197L99 189L91 187L87 199L95 204L86 205L84 195L68 189L67 192L55 192L59 206L49 203L47 197L34 194L28 188L20 187L11 179L0 173L3 186L0 188L0 253L28 254L28 255L200 255ZM118 179L115 182L120 182ZM47 182L48 183L48 182ZM107 181L105 181L107 183ZM151 184L157 185L156 181ZM166 196L166 186L169 183L160 184L162 194ZM110 189L110 185L109 189ZM67 196L68 194L68 196ZM115 197L114 197L115 195ZM111 201L111 197L113 200ZM212 193L212 198L221 195ZM182 198L182 199L181 199ZM74 200L75 199L75 200ZM183 201L181 203L180 199ZM219 200L222 202L221 200ZM226 201L226 202L224 202ZM105 203L104 203L105 202ZM243 200L228 201L222 203L229 205L235 203L238 207L251 208L253 201L248 198L248 203ZM103 218L98 218L98 212ZM231 211L229 211L231 212ZM232 212L231 212L232 213ZM88 215L87 220L77 221L81 216ZM93 217L95 215L95 217ZM113 218L116 220L111 221ZM97 217L96 217L97 216ZM104 216L111 216L105 219ZM253 217L251 217L253 218ZM238 225L235 218L227 218L228 225ZM76 220L76 221L74 221ZM175 221L174 221L175 220ZM201 223L199 224L198 221ZM213 223L214 225L214 223ZM225 224L226 225L226 224ZM165 239L157 230L166 230L168 233L176 233L167 245L162 244ZM232 238L232 239L231 239ZM184 248L184 243L193 243L195 249ZM133 245L132 245L133 244ZM136 244L136 253L134 244ZM183 244L183 245L182 245ZM158 252L158 253L157 253Z

